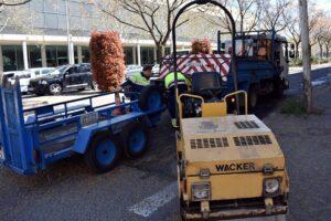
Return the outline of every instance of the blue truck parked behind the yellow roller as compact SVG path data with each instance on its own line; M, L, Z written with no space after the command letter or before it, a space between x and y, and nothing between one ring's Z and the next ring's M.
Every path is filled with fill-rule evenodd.
M218 33L220 53L233 53L228 33ZM254 107L261 95L282 96L288 88L289 50L286 38L275 31L238 32L235 36L238 87L248 93ZM229 90L232 92L233 90Z

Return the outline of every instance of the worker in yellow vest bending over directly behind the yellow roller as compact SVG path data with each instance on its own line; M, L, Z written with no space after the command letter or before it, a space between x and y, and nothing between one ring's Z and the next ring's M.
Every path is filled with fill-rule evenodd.
M183 74L178 72L178 92L179 94L185 93L189 90L190 81ZM174 73L170 72L164 77L164 86L168 91L168 110L171 116L171 124L173 127L177 127L177 118L175 118L175 88L174 88Z

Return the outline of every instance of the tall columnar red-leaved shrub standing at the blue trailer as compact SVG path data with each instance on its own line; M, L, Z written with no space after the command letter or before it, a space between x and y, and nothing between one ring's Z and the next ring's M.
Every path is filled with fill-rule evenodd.
M125 76L125 54L117 32L92 32L90 66L93 77L102 92L119 88Z

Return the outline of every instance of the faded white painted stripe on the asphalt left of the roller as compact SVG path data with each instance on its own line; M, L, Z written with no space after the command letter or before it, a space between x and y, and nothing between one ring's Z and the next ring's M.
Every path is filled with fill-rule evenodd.
M130 207L129 211L147 218L151 215L154 211L157 211L160 207L163 207L172 199L177 198L177 196L178 196L178 183L172 182L171 185L163 188L161 191L157 192L156 194L146 198L141 202Z

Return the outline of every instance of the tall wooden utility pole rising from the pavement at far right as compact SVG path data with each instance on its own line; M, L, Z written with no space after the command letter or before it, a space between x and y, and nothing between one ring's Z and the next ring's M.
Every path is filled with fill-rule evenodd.
M311 73L311 51L309 43L309 29L308 29L308 7L307 0L299 0L300 10L300 32L301 32L301 45L302 45L302 62L303 62L303 90L305 90L305 106L306 112L312 110L312 87L310 81Z

